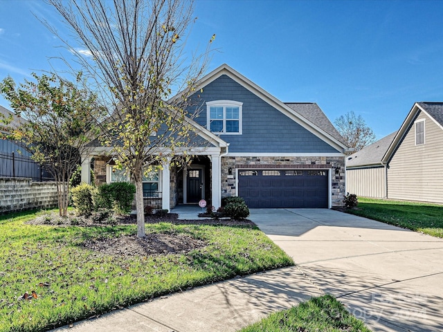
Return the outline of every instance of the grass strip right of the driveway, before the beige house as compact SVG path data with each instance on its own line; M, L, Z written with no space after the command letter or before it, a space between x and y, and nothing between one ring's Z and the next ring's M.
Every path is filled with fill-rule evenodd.
M357 209L347 212L433 237L443 237L443 205L359 198Z

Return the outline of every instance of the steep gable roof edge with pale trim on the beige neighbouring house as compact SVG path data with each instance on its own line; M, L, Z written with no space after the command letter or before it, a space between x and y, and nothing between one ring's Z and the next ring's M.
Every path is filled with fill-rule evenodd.
M388 147L386 154L383 156L381 160L382 163L388 163L390 161L392 156L395 154L395 151L397 151L397 148L403 141L404 136L406 136L406 133L408 133L408 129L413 124L420 112L426 114L426 116L433 120L435 124L437 124L437 126L443 130L443 102L415 102L413 108L410 109L408 116L406 116L403 124L401 124L397 135L392 140L391 145Z

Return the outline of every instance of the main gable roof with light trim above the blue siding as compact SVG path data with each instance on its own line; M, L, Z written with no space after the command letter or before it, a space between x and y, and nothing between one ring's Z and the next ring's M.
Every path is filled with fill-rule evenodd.
M332 129L334 126L332 126L329 120L327 120L325 114L323 111L321 111L318 105L314 103L302 103L299 104L300 107L297 107L297 103L284 104L270 93L264 91L264 89L260 88L260 86L257 86L257 84L235 71L233 68L230 68L230 66L227 64L222 64L215 70L208 73L208 75L201 78L201 80L197 82L195 90L199 91L200 89L203 89L204 86L217 80L217 78L219 78L221 75L227 75L232 80L242 85L245 89L251 91L251 93L254 93L272 107L282 112L288 118L297 122L311 133L314 133L314 135L318 136L318 138L324 140L335 149L338 149L338 151L347 151L348 147L346 146L343 138L341 138L335 128L335 130ZM171 100L181 98L181 95L183 95L183 93L178 93L171 98ZM298 109L298 111L293 109L290 105L293 105L293 107ZM320 113L323 113L323 116L320 116ZM329 122L329 124L327 122Z

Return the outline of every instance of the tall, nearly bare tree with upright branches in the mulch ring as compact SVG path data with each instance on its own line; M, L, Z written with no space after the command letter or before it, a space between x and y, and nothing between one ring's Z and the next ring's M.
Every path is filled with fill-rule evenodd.
M197 57L185 56L194 20L192 1L48 3L60 12L80 46L86 48L86 52L78 50L65 41L96 82L96 89L105 87L102 93L112 112L102 122L100 137L103 144L113 147L116 163L136 184L137 233L145 237L143 174L168 165L172 158L177 162L177 154L186 156L192 140L189 97L195 93L208 61L208 49ZM181 97L170 100L177 91L183 91Z

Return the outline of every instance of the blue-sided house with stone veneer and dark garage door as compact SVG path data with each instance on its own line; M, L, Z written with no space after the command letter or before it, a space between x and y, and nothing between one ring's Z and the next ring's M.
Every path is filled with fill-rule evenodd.
M198 203L218 208L225 196L242 196L250 208L331 208L343 205L343 138L315 103L283 103L226 64L199 81L191 98L203 106L192 121L204 140L193 147L188 169L163 165L148 174L145 196L161 207ZM125 180L105 147L82 164L89 182Z

